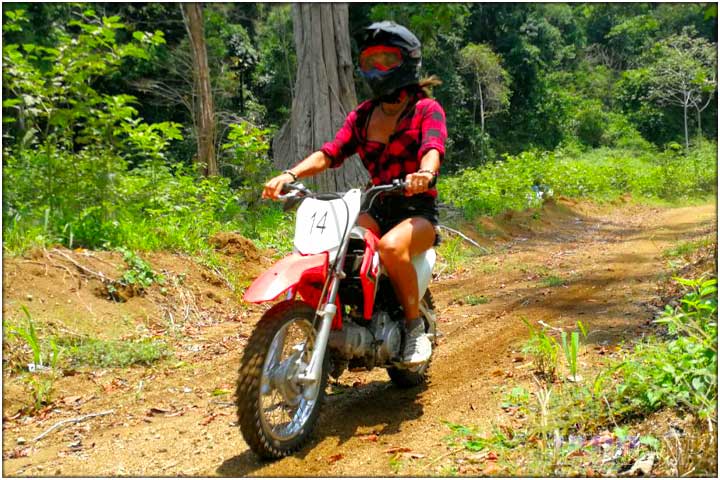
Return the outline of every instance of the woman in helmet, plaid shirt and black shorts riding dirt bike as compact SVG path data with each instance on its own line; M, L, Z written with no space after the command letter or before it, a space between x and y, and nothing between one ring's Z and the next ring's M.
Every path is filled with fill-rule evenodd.
M357 153L372 178L382 185L400 179L405 197L378 198L358 225L380 237L379 254L405 314L402 362L417 365L432 354L420 318L418 285L411 258L436 242L437 177L445 154L445 112L429 98L435 77L420 79L421 44L407 28L376 22L365 29L359 68L373 98L345 119L335 139L265 184L263 198L276 199L286 183L337 168Z

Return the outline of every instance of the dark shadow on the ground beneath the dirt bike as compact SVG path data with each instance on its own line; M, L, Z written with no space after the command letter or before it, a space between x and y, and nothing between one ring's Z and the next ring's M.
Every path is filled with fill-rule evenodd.
M357 387L331 381L315 433L308 444L290 458L303 460L315 449L326 450L325 444L333 439L337 443L332 442L332 447L337 448L353 437L374 433L382 438L398 433L404 422L422 416L421 394L427 389L427 384L398 388L389 379ZM244 477L272 463L260 460L248 449L226 459L218 467L217 474Z

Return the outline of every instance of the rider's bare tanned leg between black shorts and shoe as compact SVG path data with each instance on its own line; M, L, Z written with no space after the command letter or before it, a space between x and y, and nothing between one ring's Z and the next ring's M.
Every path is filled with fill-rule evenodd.
M380 239L380 258L405 311L405 320L420 316L418 284L410 259L432 247L435 229L425 218L403 220Z

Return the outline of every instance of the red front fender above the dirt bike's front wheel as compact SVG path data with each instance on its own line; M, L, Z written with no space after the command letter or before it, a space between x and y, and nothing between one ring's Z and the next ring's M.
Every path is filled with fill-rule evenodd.
M290 254L256 278L245 291L243 300L250 303L273 301L289 288L297 286L303 276L324 280L327 268L327 252L317 255Z

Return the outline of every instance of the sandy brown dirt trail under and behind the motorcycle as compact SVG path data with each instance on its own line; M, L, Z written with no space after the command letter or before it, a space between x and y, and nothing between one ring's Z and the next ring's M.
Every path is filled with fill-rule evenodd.
M523 222L495 253L431 287L444 337L429 384L400 390L384 372L346 372L332 388L314 440L293 457L258 462L235 424L231 395L213 395L232 390L240 347L252 328L250 321L220 322L202 331L204 349L188 365L106 372L94 379L95 395L73 411L59 408L39 424L4 421L7 453L17 448L18 437L32 439L64 418L115 409L49 435L27 457L4 460L3 473L440 475L448 452L443 421L488 427L502 420L503 387L529 375L527 360L517 353L527 338L523 318L568 327L582 320L591 332L588 341L599 345L632 339L653 316L667 264L662 252L717 232L715 204L600 209L562 202L539 219L514 219L515 225ZM213 350L228 339L232 348ZM589 361L581 358L581 366ZM116 391L101 388L117 375L122 382ZM411 449L415 458L390 462L386 452L394 447Z

